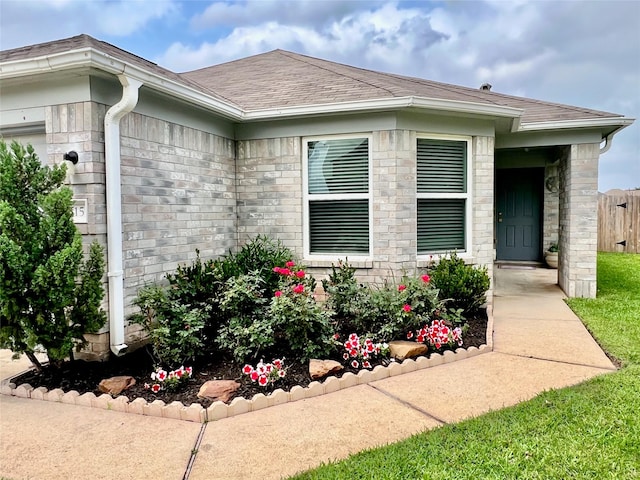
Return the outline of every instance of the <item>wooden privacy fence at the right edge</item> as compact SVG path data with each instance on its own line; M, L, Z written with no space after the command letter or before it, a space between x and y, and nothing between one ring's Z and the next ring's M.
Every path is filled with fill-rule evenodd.
M598 251L640 253L640 190L598 195Z

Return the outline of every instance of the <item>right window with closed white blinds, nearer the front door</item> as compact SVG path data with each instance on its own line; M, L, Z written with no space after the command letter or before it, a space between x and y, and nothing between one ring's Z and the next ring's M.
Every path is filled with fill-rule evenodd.
M419 138L418 254L467 249L468 142Z

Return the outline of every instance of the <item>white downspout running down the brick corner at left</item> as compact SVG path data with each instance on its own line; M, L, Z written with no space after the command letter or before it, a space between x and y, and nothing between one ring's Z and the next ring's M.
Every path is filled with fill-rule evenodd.
M142 82L124 74L122 99L104 117L104 152L107 191L107 261L109 278L109 338L117 356L127 351L124 343L124 266L122 262L122 196L120 183L120 119L138 103Z

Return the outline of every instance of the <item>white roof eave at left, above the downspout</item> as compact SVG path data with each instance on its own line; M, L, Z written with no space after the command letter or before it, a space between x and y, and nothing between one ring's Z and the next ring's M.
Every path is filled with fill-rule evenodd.
M211 109L231 120L238 121L244 116L244 112L235 105L223 102L188 85L133 65L92 47L36 58L2 62L0 64L0 80L42 73L72 71L81 68L95 68L114 75L127 75L141 81L145 86Z

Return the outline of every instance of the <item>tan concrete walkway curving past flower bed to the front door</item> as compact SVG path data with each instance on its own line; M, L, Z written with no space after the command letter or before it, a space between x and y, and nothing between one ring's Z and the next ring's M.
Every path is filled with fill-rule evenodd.
M555 282L496 270L490 353L203 425L0 396L0 476L286 478L614 371ZM3 352L0 376L25 366Z

